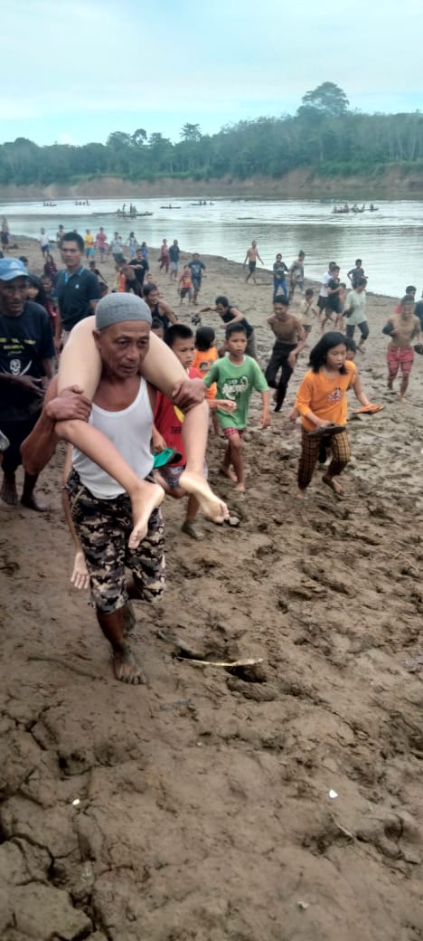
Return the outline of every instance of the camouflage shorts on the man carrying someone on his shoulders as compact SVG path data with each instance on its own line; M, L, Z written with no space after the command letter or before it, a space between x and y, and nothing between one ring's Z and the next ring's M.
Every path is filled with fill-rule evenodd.
M91 596L105 614L122 608L128 600L125 567L146 601L164 592L164 524L160 509L149 518L149 531L138 549L128 548L133 530L131 501L126 493L114 500L99 500L81 484L76 470L67 483L71 517L86 557Z

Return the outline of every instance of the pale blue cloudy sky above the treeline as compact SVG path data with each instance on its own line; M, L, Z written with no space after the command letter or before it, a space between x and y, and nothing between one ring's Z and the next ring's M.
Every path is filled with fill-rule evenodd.
M336 82L350 106L423 110L421 0L13 0L2 9L0 142L172 140L294 114Z

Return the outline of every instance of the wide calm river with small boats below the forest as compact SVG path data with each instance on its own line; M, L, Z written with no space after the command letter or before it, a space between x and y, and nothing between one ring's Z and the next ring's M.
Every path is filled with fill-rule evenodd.
M290 265L298 251L305 251L305 276L319 280L329 261L337 261L341 279L346 278L356 258L363 260L368 291L400 297L407 284L423 289L423 201L382 200L378 211L361 215L333 215L333 204L298 199L214 199L197 205L196 199L140 199L134 190L126 199L139 212L153 215L136 219L117 218L122 205L117 199L92 199L76 206L73 199L57 200L44 207L42 201L9 202L0 205L13 235L37 238L43 226L51 238L59 223L65 230L100 226L110 237L114 231L125 240L134 231L138 242L159 246L163 238L177 238L185 251L220 255L243 262L252 239L266 267L272 267L276 252ZM169 202L172 210L164 208Z

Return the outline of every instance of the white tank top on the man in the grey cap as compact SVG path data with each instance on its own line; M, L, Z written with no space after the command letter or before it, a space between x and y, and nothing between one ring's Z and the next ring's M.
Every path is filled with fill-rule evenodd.
M93 405L89 423L113 441L118 452L138 477L147 477L153 466L149 450L153 414L149 390L145 379L140 380L139 391L132 405L122 411L111 412ZM89 460L78 448L73 448L72 465L81 483L99 500L113 500L124 489L105 470Z

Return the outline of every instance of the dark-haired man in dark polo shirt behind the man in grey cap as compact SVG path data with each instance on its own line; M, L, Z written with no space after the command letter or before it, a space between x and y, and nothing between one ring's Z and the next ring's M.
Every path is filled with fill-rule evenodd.
M55 291L58 307L55 318L55 346L65 344L72 327L94 313L102 296L97 276L84 267L84 239L78 232L66 232L62 238L65 271L60 271ZM62 335L63 334L63 335Z

